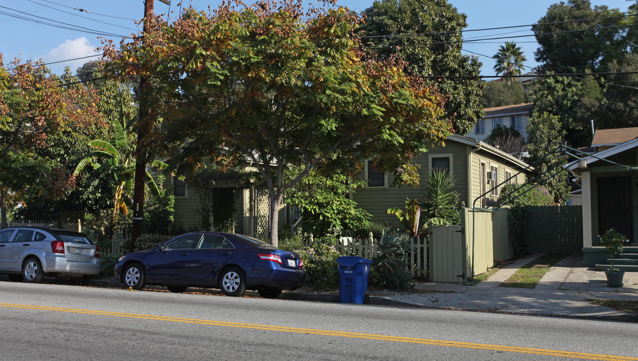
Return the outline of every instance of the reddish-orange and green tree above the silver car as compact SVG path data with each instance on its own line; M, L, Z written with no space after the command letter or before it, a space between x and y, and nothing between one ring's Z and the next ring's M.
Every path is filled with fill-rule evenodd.
M6 225L6 199L27 207L59 200L74 186L66 168L65 141L81 139L105 124L94 89L72 77L51 75L41 64L19 59L4 68L0 55L0 204ZM66 86L61 86L66 85Z

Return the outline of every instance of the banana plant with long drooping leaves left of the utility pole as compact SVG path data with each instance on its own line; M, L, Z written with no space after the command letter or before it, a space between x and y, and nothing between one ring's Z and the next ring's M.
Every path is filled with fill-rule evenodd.
M93 166L94 170L99 170L107 165L106 171L112 177L113 189L113 219L117 221L119 212L128 214L128 207L124 198L132 198L133 196L133 179L135 177L135 158L133 151L128 145L126 130L122 127L121 122L114 119L115 137L107 142L105 140L91 140L89 147L92 151L87 154L82 161L75 167L73 175L79 175L86 166ZM104 164L98 163L98 159L103 160ZM149 162L150 165L156 166L158 169L168 168L166 163L158 160ZM151 193L159 197L159 189L151 173L146 170L146 182Z

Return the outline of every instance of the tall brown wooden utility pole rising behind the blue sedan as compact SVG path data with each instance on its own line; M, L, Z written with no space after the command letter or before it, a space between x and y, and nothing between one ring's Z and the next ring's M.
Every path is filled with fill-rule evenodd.
M154 0L144 1L144 35L149 30L149 22L153 16ZM142 40L144 44L146 39ZM131 225L131 244L129 251L135 251L135 241L142 234L142 224L144 223L144 187L146 185L146 155L147 144L145 138L151 129L151 119L149 119L149 109L145 101L145 94L149 92L151 83L142 76L140 77L140 99L139 100L139 117L137 129L137 144L135 146L135 181L133 189L133 224Z

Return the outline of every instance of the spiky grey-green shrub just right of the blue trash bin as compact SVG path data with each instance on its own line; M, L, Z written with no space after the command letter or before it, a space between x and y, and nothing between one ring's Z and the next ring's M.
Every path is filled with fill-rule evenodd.
M408 233L385 231L373 259L369 283L378 288L408 290L413 286L410 272L410 245Z

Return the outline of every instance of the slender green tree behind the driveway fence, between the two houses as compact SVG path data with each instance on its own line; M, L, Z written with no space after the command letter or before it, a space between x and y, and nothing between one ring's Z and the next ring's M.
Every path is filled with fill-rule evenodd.
M565 131L561 129L560 118L547 113L534 114L530 118L527 126L528 144L530 152L530 163L537 163L535 176L542 175L540 180L546 182L545 188L554 198L554 202L565 204L569 199L569 185L567 172L563 170L563 165L567 163L560 154L549 154L561 145Z

